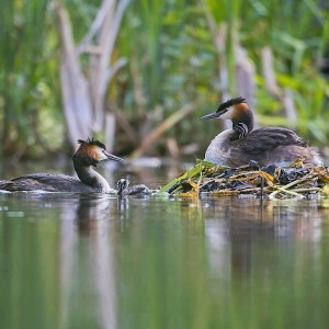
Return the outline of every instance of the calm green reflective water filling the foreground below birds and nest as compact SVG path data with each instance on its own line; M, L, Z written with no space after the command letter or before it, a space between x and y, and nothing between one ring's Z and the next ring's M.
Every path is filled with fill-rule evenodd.
M328 200L0 194L0 328L328 328Z

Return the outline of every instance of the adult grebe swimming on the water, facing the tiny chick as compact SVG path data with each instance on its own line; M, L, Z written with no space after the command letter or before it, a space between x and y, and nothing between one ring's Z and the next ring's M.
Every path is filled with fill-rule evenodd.
M105 145L95 139L79 139L79 147L72 156L73 167L78 174L76 179L66 174L31 173L10 181L0 181L0 190L16 191L47 191L76 193L115 193L107 181L92 167L100 161L114 160L126 162L106 151Z

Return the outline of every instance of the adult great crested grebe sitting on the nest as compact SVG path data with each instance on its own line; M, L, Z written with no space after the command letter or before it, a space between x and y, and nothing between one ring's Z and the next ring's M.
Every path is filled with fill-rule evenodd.
M304 159L305 164L321 166L318 152L308 147L293 131L281 127L253 129L253 114L243 98L219 105L202 120L220 117L232 122L232 129L218 134L205 152L205 160L220 166L240 167L250 160L261 167L287 167Z

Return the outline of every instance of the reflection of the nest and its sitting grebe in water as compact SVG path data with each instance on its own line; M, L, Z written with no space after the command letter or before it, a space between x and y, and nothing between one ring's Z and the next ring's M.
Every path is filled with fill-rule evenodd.
M211 269L219 276L248 277L260 263L263 271L266 266L270 270L268 254L285 241L318 241L324 216L318 202L307 202L305 207L299 203L263 201L261 205L260 200L203 200Z

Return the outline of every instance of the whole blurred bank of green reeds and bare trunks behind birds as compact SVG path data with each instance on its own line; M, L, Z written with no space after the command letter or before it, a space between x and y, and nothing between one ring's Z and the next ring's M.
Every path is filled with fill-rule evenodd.
M202 157L225 125L198 118L237 95L258 126L324 150L328 36L316 0L4 0L0 158L92 136L121 156Z

